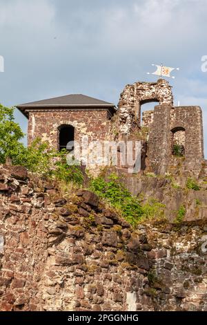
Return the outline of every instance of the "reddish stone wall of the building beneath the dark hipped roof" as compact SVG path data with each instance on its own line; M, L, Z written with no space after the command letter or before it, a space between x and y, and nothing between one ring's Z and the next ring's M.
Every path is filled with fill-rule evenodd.
M29 115L28 144L37 137L58 149L59 131L61 124L75 127L75 141L81 142L84 135L88 140L104 140L110 129L110 120L106 110L55 110L35 111Z

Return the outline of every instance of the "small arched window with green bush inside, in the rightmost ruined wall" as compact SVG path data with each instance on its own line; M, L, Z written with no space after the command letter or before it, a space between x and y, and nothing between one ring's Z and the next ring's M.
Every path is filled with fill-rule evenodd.
M176 157L185 156L186 130L183 127L175 127L171 130L172 155Z

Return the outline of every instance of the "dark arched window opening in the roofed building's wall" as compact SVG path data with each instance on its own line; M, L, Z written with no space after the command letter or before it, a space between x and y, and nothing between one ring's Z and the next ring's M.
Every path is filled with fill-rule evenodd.
M69 142L74 141L75 128L72 125L61 125L59 127L59 151L66 149L68 151L74 150L74 145Z

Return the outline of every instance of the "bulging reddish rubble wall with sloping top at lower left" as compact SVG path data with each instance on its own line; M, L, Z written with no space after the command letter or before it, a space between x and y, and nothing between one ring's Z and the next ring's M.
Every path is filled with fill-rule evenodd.
M0 310L153 308L137 300L150 268L137 235L95 194L7 167L0 195Z

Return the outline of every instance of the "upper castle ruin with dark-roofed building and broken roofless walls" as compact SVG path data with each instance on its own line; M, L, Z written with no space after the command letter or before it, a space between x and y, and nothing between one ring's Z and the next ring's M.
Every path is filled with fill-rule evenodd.
M141 105L157 102L154 111L143 113ZM172 87L166 80L126 85L118 104L85 95L66 95L18 105L29 120L28 143L40 137L55 149L71 140L141 140L142 169L165 174L176 165L174 149L181 151L183 169L199 175L204 163L202 112L199 106L174 106ZM141 129L147 138L139 138ZM112 130L116 132L112 132ZM116 133L116 136L115 136Z

